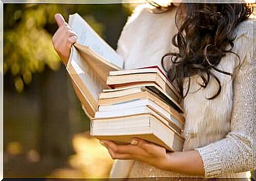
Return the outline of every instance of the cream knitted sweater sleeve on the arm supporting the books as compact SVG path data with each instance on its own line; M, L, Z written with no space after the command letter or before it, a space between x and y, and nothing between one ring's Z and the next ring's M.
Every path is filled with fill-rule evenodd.
M252 24L251 24L252 26ZM249 27L252 28L252 27ZM248 30L246 30L248 31ZM221 139L204 147L200 153L205 177L239 173L255 168L253 162L253 122L255 120L254 87L255 39L253 31L237 38L241 65L233 79L233 108L230 132ZM254 104L254 105L253 105Z

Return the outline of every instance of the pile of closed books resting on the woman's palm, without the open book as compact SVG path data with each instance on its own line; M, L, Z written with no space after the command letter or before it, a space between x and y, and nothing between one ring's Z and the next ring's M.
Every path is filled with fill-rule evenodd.
M137 137L168 150L182 150L183 109L158 67L110 72L107 85L112 89L99 95L91 135L119 143Z

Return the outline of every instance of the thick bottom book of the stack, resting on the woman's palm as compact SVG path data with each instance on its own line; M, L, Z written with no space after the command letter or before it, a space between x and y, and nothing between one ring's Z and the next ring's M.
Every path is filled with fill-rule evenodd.
M184 138L151 114L109 119L93 118L90 130L90 134L98 139L127 144L137 137L163 146L169 151L181 151L184 143Z

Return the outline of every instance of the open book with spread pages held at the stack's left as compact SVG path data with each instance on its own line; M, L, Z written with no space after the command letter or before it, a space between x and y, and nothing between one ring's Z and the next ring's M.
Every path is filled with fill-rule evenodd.
M78 34L78 43L71 48L67 71L84 111L92 118L109 72L122 70L124 59L79 14L69 16L69 26Z

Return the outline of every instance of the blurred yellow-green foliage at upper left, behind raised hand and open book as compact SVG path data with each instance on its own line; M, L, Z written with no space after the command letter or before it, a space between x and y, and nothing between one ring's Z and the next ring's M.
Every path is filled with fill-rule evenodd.
M30 84L33 73L42 73L45 66L53 71L60 68L52 36L58 28L54 14L79 13L103 38L105 26L95 15L113 17L120 13L121 4L4 4L4 74L13 76L14 85L22 92Z

